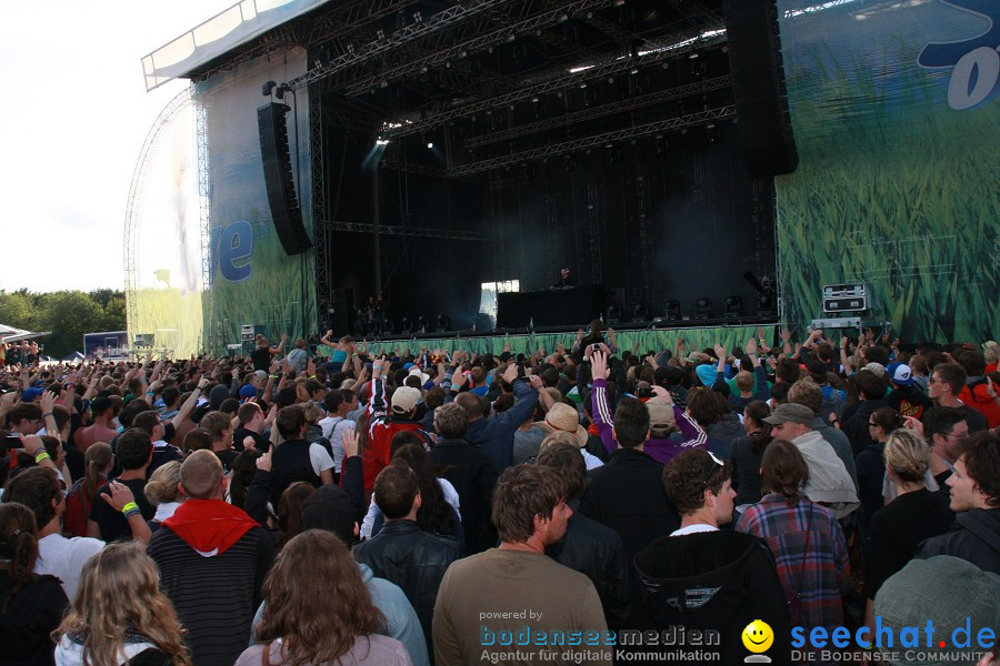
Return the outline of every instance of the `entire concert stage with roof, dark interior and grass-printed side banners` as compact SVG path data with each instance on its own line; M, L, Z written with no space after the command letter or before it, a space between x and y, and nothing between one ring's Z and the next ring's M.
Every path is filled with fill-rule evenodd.
M804 326L824 284L864 282L863 316L914 340L992 337L997 272L980 266L1000 218L976 165L996 154L996 102L951 99L989 87L949 87L973 70L948 58L914 65L942 48L914 27L958 49L976 26L947 3L867 4L234 4L143 59L149 88L193 82L199 199L178 226L197 208L201 234L178 299L129 283L130 333L203 324L209 351L241 326L349 333L376 295L393 330L467 330L496 316L486 294L568 268L626 319ZM871 69L886 62L898 80ZM129 239L138 281L153 271Z

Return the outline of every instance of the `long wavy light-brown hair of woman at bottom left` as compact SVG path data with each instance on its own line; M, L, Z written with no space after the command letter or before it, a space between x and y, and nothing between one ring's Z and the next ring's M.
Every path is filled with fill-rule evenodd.
M83 636L84 664L117 666L126 626L168 655L173 666L191 666L183 628L160 592L160 572L136 542L108 544L87 561L73 605L52 638Z

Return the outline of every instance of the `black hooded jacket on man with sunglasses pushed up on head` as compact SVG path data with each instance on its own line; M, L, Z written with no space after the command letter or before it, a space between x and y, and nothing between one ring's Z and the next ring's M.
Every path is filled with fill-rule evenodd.
M791 664L791 620L774 558L757 537L723 529L659 538L636 557L641 604L653 626L719 633L719 664L742 664L743 629L770 625L772 664Z

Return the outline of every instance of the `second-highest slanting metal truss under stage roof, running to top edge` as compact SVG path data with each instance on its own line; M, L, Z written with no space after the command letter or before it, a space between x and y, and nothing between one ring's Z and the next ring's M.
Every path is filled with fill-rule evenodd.
M469 56L471 53L484 51L490 47L507 43L520 36L534 33L538 30L559 23L564 20L564 16L567 14L576 14L589 9L601 9L603 7L609 7L612 3L613 0L574 0L556 9L536 13L521 21L510 22L503 28L492 30L486 34L481 34L479 33L481 31L477 31L476 37L472 39L450 46L444 46L442 43L441 48L437 49L432 54L426 58L407 60L396 67L380 68L371 75L348 83L343 88L343 92L351 97L358 95L374 87L381 85L383 81L388 82L393 79L399 79L431 67L444 65L451 60L462 58L462 53Z

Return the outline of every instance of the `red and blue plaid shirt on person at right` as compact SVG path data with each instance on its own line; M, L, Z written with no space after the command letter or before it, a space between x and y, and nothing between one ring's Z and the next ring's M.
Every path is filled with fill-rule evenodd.
M786 595L800 595L802 617L792 617L792 623L807 629L843 624L841 594L850 583L850 564L843 532L830 509L807 497L789 506L783 496L770 494L748 507L736 528L767 542Z

